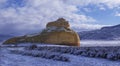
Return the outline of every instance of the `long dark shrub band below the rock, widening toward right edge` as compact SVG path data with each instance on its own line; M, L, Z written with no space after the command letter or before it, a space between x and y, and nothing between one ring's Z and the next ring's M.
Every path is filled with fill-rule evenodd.
M68 53L73 55L81 55L86 57L106 58L110 60L120 60L120 47L55 47L55 46L42 46L30 48L27 50L46 50L49 52Z

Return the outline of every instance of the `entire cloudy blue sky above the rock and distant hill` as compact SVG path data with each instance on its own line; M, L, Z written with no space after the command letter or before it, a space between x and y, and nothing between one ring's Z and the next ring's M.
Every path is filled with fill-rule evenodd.
M64 17L76 31L120 23L120 0L0 0L0 34L39 32Z

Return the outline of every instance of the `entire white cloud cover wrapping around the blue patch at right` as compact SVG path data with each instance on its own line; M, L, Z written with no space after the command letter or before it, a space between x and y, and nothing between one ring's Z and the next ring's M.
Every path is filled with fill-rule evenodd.
M6 0L0 0L0 3L3 2L6 2ZM120 0L27 0L23 7L9 7L0 10L0 23L2 25L0 30L7 28L6 26L12 26L12 28L7 29L27 33L40 30L45 27L47 22L59 17L66 18L75 28L100 28L101 25L86 24L96 20L90 16L78 14L77 12L80 10L77 7L89 4L99 6L101 3L109 8L114 8L120 5Z

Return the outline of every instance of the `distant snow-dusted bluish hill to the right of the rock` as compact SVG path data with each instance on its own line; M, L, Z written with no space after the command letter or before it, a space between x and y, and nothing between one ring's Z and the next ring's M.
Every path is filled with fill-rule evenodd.
M120 24L78 33L81 40L120 40Z

